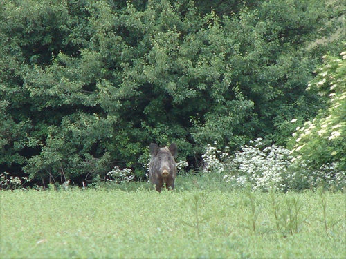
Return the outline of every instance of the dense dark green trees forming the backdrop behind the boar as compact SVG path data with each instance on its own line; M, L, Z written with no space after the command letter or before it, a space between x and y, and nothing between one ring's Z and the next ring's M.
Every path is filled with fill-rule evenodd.
M340 1L1 1L0 170L49 182L143 175L150 142L282 144Z

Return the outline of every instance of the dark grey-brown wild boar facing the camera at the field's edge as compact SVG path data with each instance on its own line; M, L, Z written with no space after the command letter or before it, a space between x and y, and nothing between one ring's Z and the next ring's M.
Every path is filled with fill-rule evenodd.
M176 175L176 144L169 147L160 148L156 144L150 144L150 154L152 159L149 164L149 180L155 184L156 191L161 192L163 184L166 189L174 189L174 180Z

